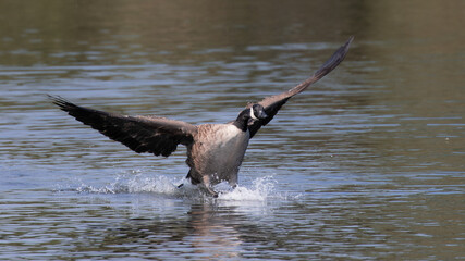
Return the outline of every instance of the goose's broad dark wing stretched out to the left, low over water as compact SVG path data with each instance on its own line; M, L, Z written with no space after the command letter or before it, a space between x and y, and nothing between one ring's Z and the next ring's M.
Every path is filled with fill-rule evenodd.
M126 116L97 111L49 96L61 110L107 137L120 141L137 153L170 156L179 144L188 146L197 127L181 121L156 116Z

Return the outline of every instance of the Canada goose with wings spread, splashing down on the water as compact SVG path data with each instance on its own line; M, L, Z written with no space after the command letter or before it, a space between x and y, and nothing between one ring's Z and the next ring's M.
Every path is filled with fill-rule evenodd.
M249 103L232 122L225 124L192 125L158 116L126 116L75 105L61 97L49 98L61 110L120 141L137 153L170 156L178 145L187 147L187 178L217 197L211 186L227 181L237 184L237 172L244 159L248 140L267 125L281 107L293 96L335 69L348 51L351 37L315 74L294 88L269 96L258 103Z

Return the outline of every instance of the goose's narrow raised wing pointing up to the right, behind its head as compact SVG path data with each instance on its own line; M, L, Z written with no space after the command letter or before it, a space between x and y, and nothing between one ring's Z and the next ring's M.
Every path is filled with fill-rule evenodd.
M267 125L278 113L278 111L281 109L281 107L287 102L291 97L301 94L304 91L308 86L311 84L318 82L320 78L322 78L325 75L330 73L332 70L334 70L345 58L345 54L347 54L348 46L351 45L354 37L348 38L348 40L340 47L332 57L323 64L321 67L311 75L311 77L304 80L302 84L295 86L294 88L286 90L280 95L276 96L269 96L262 99L259 104L261 104L265 108L265 112L267 113L268 117L260 120L260 121L250 121L248 124L248 130L250 132L250 138L260 129L261 126ZM248 108L253 103L248 104Z

